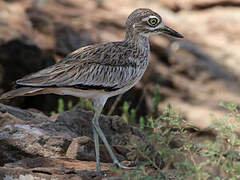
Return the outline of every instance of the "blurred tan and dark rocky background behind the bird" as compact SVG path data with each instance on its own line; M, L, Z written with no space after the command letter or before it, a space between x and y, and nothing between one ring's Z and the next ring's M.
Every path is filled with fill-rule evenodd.
M152 36L143 79L108 101L105 114L121 115L127 101L138 117L151 115L157 89L159 112L170 103L194 126L207 128L211 114L224 113L220 102L240 102L239 0L1 0L0 93L77 48L123 40L125 20L139 7L159 13L185 38ZM58 99L44 95L6 103L49 115L57 110ZM70 100L78 101L64 97Z

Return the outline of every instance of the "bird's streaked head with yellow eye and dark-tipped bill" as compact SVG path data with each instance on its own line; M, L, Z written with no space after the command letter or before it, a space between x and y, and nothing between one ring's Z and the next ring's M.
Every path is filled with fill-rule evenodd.
M166 26L159 14L150 9L140 8L133 11L126 21L127 31L148 37L151 34L167 34L176 38L183 35Z

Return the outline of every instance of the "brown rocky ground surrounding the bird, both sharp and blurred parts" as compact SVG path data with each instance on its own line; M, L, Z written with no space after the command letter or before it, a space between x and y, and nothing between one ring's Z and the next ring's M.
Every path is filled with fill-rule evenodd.
M120 115L124 101L131 102L137 116L151 114L155 86L159 84L159 111L171 103L187 121L204 130L212 123L210 114L224 113L219 102L240 102L239 6L238 0L0 1L0 93L12 89L16 79L55 63L81 46L123 39L129 13L148 7L185 39L151 37L147 72L111 114ZM17 177L23 172L28 179L95 176L90 171L95 169L89 124L92 113L71 110L50 118L58 99L45 95L3 102L34 108L34 112L0 104L0 174L16 172ZM72 97L64 100L77 101ZM105 114L115 100L110 99ZM102 126L118 157L126 163L132 161L123 146L129 142L126 136L147 141L119 117L102 117ZM103 147L101 151L104 169L108 169L111 161Z

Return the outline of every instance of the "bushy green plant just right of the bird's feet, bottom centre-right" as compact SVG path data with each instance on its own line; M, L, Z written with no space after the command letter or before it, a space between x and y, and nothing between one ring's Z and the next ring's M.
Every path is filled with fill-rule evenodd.
M165 162L168 162L167 167L178 168L178 172L182 172L183 178L189 177L186 172L192 173L194 166L188 158L188 151L193 150L194 145L184 144L185 141L190 142L190 138L183 128L184 123L186 124L182 117L172 110L170 105L156 119L150 117L145 120L141 117L139 120L140 128L147 130L148 138L151 144L154 144L156 151L153 151L152 146L149 144L138 141L133 142L130 147L135 148L132 149L129 155L135 156L134 159L137 161L144 160L146 163L135 172L126 173L125 179L134 179L135 177L139 179L168 179L164 174L169 169L160 169L161 163L157 158L159 155L164 157ZM181 163L183 159L184 163ZM138 176L135 176L135 174L138 174Z

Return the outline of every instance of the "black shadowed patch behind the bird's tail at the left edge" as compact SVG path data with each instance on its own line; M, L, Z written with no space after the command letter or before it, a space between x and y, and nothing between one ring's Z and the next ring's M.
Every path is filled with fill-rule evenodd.
M15 86L15 81L23 76L36 72L44 67L55 63L53 56L42 51L35 44L27 44L20 40L8 41L0 45L0 67L2 68L2 79L0 87L7 91ZM58 96L48 96L48 98L35 96L33 98L20 97L15 100L6 101L11 105L19 107L38 107L41 110L54 109ZM44 103L44 106L41 105Z

